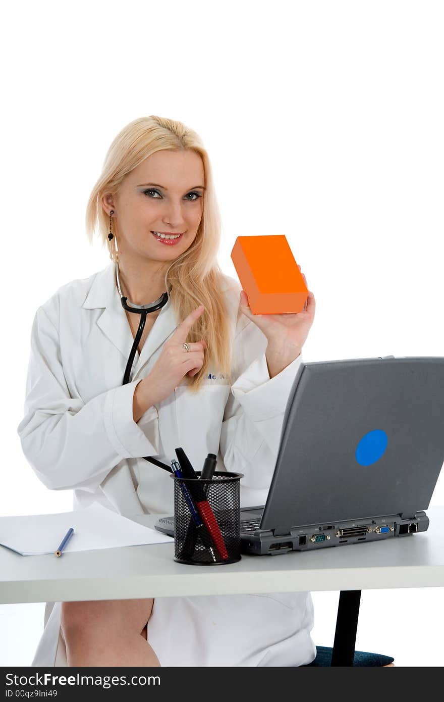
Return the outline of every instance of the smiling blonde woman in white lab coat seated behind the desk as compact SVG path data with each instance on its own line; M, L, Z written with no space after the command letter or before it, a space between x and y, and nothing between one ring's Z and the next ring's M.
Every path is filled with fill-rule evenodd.
M182 446L196 470L215 453L216 470L242 472L242 505L264 503L313 293L300 314L252 314L217 265L208 154L177 121L136 119L116 136L88 201L90 239L97 223L112 263L34 318L27 460L49 489L74 490L74 510L173 514L169 475L144 456L169 464ZM121 297L166 303L146 315L124 384L140 314ZM48 602L32 665L303 665L312 627L307 592Z

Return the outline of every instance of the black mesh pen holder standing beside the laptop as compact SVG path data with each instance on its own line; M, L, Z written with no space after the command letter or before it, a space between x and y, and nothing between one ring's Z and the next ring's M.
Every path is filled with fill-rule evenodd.
M174 480L175 561L200 566L240 561L243 473L217 471L211 480L170 477Z

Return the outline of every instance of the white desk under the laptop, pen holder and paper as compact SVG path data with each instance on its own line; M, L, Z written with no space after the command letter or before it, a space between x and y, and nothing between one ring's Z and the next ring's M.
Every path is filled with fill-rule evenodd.
M350 649L352 643L354 649L361 590L444 585L444 507L429 508L426 514L430 525L422 534L316 552L243 555L238 563L208 567L176 563L173 540L66 552L60 558L20 556L0 547L0 602L122 600L173 597L177 592L192 596L341 590L346 607L342 607L340 622L338 613L337 635L339 630L346 632L347 645ZM153 527L159 516L167 515L135 520ZM351 621L351 614L356 621Z

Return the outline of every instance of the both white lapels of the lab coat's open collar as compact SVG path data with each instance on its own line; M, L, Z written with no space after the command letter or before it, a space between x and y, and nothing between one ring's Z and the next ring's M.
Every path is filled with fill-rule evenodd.
M95 307L105 307L105 310L97 319L97 326L100 327L109 341L119 349L123 357L128 359L133 345L133 335L128 324L126 312L121 305L119 291L116 288L114 263L110 263L104 270L97 273L82 306L88 310ZM149 331L140 357L136 351L131 380L136 380L140 376L140 371L149 362L149 359L159 346L175 331L176 327L177 319L170 300L168 300L168 303L161 308L152 329Z

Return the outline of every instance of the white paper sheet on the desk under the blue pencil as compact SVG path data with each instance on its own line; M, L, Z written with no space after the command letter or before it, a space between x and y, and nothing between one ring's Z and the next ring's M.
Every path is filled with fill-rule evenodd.
M63 553L174 541L172 536L143 527L96 503L75 512L0 517L0 545L22 556L54 553L70 527L74 534Z

